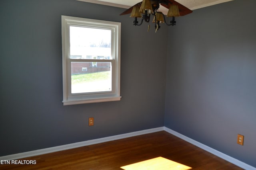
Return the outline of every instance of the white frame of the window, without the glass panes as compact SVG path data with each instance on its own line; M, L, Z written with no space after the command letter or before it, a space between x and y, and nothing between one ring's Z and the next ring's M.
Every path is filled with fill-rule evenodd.
M112 91L94 93L71 93L71 62L90 62L88 59L70 59L70 26L98 27L112 30L111 53L112 60L98 60L98 62L112 63ZM63 105L110 102L121 100L120 96L120 49L121 23L112 21L92 20L62 16L62 77L63 77Z

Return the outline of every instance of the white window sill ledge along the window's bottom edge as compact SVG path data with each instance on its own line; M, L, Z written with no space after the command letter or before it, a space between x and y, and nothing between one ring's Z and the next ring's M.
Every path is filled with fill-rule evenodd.
M121 98L122 98L121 96L116 96L116 97L91 98L91 99L62 101L62 102L63 102L63 105L66 106L66 105L73 105L73 104L88 104L88 103L120 101Z

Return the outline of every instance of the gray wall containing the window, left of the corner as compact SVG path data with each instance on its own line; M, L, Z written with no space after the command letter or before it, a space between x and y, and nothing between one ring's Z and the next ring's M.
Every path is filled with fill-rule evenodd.
M76 0L0 1L0 156L164 125L168 29L148 33L147 24L119 16L124 10ZM122 22L121 101L63 106L61 15Z

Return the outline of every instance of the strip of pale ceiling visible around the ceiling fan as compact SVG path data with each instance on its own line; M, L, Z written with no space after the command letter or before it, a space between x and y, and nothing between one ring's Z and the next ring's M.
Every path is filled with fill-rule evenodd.
M131 6L141 2L142 0L79 0L84 2L91 2L95 4L102 4L102 5L109 5L109 6L116 6L120 8L130 8ZM215 4L220 4L223 2L228 2L232 0L175 0L180 4L186 6L190 10L195 10L198 8L204 8L206 6L211 6ZM167 14L168 9L160 6L159 11Z

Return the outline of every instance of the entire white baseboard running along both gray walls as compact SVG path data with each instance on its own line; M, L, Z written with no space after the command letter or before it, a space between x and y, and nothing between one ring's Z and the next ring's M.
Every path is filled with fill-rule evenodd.
M16 159L20 159L20 158L27 158L30 156L36 156L36 155L40 155L40 154L47 154L47 153L57 152L57 151L61 151L61 150L68 150L68 149L73 149L73 148L78 148L78 147L84 147L84 146L88 146L88 145L94 145L94 144L98 144L98 143L114 141L114 140L118 140L118 139L124 139L124 138L128 138L128 137L144 135L144 134L148 134L148 133L154 133L154 132L158 132L158 131L166 131L180 139L183 139L184 141L187 141L188 143L191 143L201 149L204 149L207 152L210 152L224 160L227 160L228 162L231 162L232 164L235 164L236 166L239 166L245 170L256 170L256 168L253 166L250 166L240 160L232 158L231 156L228 156L222 152L219 152L218 150L212 149L211 147L208 147L202 143L199 143L198 141L195 141L189 137L186 137L186 136L184 136L176 131L173 131L172 129L169 129L167 127L157 127L157 128L153 128L153 129L146 129L146 130L142 130L142 131L124 133L121 135L114 135L114 136L110 136L110 137L93 139L93 140L89 140L89 141L71 143L68 145L61 145L61 146L50 147L50 148L46 148L46 149L38 149L38 150L29 151L29 152L11 154L11 155L7 155L7 156L0 156L0 160L16 160Z

